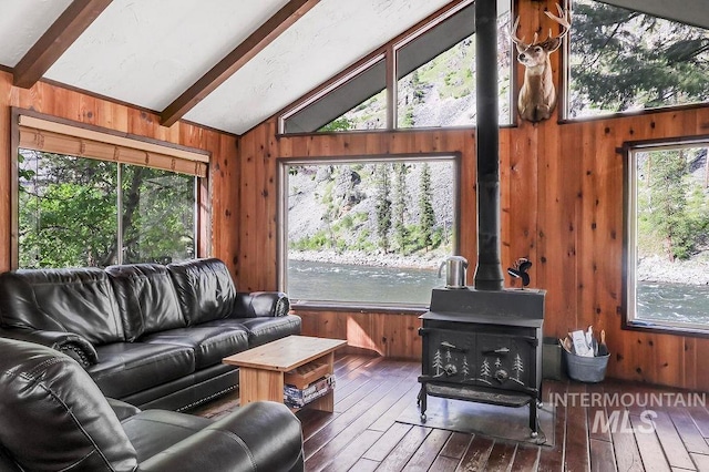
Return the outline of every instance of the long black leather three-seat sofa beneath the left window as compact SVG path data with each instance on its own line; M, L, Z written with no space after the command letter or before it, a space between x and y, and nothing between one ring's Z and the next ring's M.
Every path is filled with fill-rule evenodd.
M215 258L0 275L0 337L80 362L104 396L185 410L238 386L233 353L300 334L281 293L238 293Z

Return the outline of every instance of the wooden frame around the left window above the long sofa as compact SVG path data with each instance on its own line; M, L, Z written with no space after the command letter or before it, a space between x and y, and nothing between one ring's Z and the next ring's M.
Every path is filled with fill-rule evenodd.
M11 168L10 168L10 219L11 219L11 228L10 228L10 269L19 268L19 170L20 165L18 162L19 150L22 147L20 144L20 129L22 117L30 117L33 120L38 120L39 122L48 123L49 126L52 126L52 123L55 123L66 136L72 138L82 140L89 138L93 140L99 144L105 145L114 145L120 146L122 148L132 148L136 152L142 152L145 154L146 158L150 158L148 154L157 153L161 158L164 157L173 157L176 160L187 160L194 161L195 164L206 165L206 171L204 171L204 176L194 175L195 176L195 257L206 257L210 254L210 240L212 240L212 229L209 223L209 214L210 214L210 204L209 204L209 193L210 193L210 168L209 162L212 160L212 153L205 150L183 146L179 144L161 141L156 138L134 135L130 133L123 133L116 130L111 130L102 126L96 126L88 123L76 122L72 120L66 120L53 115L48 115L44 113L39 113L33 110L20 109L20 107L11 107L11 134L10 134L10 152L11 156ZM89 137L86 137L89 136ZM99 141L97 141L99 140ZM48 151L52 152L52 151ZM63 153L62 153L63 154ZM106 160L106 158L97 158L93 156L75 156L75 157L86 157L94 158L99 161L106 162L116 162L116 160ZM120 160L117 160L120 161ZM125 164L134 164L132 162L125 161ZM163 168L168 170L166 167L155 166L154 168ZM177 172L177 171L175 171ZM121 218L119 218L120 220Z

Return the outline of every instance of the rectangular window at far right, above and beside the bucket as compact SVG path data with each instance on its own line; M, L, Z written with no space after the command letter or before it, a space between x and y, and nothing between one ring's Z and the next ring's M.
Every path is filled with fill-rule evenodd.
M709 140L628 154L628 321L709 328Z

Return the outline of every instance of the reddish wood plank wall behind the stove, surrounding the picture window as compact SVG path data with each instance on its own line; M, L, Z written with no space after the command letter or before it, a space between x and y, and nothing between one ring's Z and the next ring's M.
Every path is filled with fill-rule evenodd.
M521 1L522 23L540 29L555 1ZM520 34L532 37L532 31ZM558 71L558 55L553 68ZM522 72L522 70L520 70ZM521 73L520 73L521 75ZM556 73L558 75L558 73ZM240 138L239 283L277 288L276 168L284 157L458 152L461 254L474 267L474 130L278 136L269 120ZM709 134L709 106L635 116L533 125L500 134L502 263L534 263L532 286L547 290L546 336L593 325L607 331L608 376L709 390L709 339L621 329L623 155L629 141ZM472 271L469 274L469 284ZM419 320L404 314L299 311L305 334L347 338L381 355L419 358Z

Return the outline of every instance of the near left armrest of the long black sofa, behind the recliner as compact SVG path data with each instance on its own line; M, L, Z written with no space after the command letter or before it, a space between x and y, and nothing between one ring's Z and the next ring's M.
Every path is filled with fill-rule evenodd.
M99 361L96 349L83 336L64 331L41 331L25 328L0 328L0 337L48 346L89 367Z

